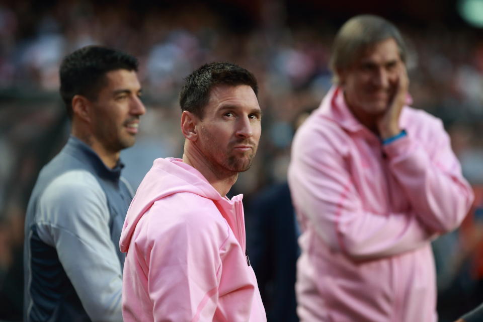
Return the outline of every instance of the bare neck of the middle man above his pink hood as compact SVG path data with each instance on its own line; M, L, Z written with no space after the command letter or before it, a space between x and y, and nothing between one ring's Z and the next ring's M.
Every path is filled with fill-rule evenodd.
M221 196L226 196L238 179L237 172L230 172L211 163L190 141L185 142L183 162L198 170Z

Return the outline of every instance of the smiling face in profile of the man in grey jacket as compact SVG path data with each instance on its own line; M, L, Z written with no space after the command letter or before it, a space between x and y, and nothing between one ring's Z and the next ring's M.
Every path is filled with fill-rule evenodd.
M105 86L92 102L92 133L106 150L118 152L134 144L139 116L146 110L134 70L111 70L105 77Z

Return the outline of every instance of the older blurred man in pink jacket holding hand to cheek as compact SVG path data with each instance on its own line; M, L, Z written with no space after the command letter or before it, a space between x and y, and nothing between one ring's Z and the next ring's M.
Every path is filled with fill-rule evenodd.
M376 16L336 36L335 85L293 141L302 321L436 322L431 240L473 199L442 122L413 109L406 49Z

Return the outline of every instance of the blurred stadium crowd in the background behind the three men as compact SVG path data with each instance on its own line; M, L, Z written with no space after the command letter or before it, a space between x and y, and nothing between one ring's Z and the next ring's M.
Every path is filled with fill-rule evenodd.
M240 175L232 193L244 193L249 202L262 189L286 180L295 119L315 109L331 87L328 59L340 25L323 19L307 24L303 17L288 24L290 12L283 2L240 3L68 0L0 5L0 318L16 318L21 310L26 203L39 169L68 135L58 95L58 66L65 54L79 47L102 44L139 58L148 111L141 118L136 145L121 154L124 175L134 188L154 158L181 156L180 84L193 69L217 60L235 62L256 75L264 113L256 162ZM481 32L437 22L420 28L409 19L395 23L410 49L414 106L443 120L465 177L479 189ZM474 208L479 215L482 199L477 198ZM483 265L473 260L479 255L476 250L483 249L475 218L467 220L464 238L455 232L435 246L443 303L454 292L461 292L462 298L483 294L478 289ZM448 299L446 303L459 305ZM451 310L447 305L441 309L443 316Z

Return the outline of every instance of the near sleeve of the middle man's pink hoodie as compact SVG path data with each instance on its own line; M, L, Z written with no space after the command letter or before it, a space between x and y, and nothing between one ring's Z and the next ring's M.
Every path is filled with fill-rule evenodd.
M172 210L157 203L149 210L149 216L156 217L149 223L152 246L147 255L147 288L154 321L211 321L219 297L219 249L227 231L219 231L209 220L200 220L202 210L193 210L187 204L185 211L177 208L182 220L159 216ZM163 227L162 234L156 232L156 226ZM220 233L224 237L218 238Z

